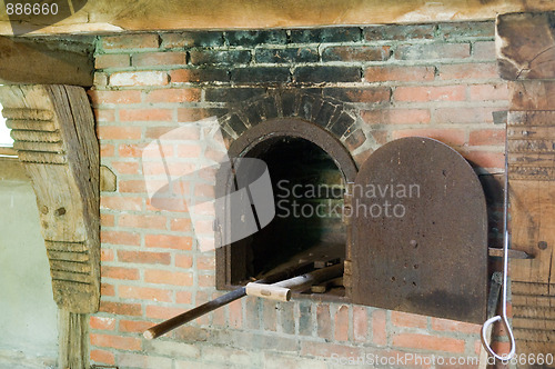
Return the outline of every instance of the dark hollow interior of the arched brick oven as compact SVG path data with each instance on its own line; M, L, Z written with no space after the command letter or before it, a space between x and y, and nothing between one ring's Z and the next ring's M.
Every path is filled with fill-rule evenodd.
M244 157L266 163L275 205L274 219L241 241L244 281L311 259L343 260L345 183L333 159L316 144L294 137L270 138Z

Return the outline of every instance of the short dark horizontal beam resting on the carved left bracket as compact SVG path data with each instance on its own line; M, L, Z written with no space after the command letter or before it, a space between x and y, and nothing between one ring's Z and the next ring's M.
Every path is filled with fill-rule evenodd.
M0 37L0 84L43 83L90 87L92 39L27 40Z

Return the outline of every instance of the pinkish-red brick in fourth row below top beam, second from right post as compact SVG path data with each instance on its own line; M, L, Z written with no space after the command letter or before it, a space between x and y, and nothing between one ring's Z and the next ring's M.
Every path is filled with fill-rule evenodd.
M393 92L396 101L463 101L465 86L397 87Z

